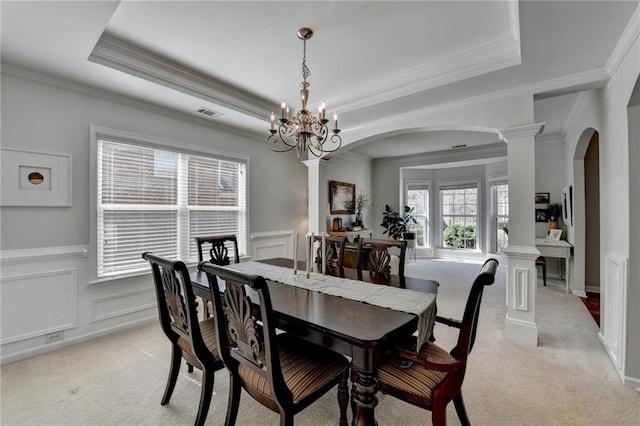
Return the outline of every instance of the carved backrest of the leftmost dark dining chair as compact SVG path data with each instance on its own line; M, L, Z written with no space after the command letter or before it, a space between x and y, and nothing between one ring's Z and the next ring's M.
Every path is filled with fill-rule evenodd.
M149 252L143 253L142 258L151 264L164 333L172 342L180 337L189 342L201 362L213 362L213 354L207 349L200 331L197 302L187 266L179 260L164 259Z

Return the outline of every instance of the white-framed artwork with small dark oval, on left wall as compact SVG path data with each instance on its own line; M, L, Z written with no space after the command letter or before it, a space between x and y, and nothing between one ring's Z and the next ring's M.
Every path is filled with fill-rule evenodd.
M2 148L2 206L71 206L71 156Z

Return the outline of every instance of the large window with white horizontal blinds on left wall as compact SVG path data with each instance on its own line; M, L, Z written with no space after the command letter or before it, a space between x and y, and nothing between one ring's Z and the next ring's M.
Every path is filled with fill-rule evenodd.
M97 275L147 271L141 255L197 261L196 235L246 254L246 163L98 135Z

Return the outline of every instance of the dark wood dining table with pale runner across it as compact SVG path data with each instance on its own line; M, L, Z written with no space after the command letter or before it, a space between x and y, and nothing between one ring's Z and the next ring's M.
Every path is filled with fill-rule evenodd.
M322 275L316 265L310 267L311 280L305 280L304 262L296 262L301 269L296 269L295 272L292 259L274 258L253 263L253 268L261 270L267 280L279 329L351 358L355 367L351 392L356 404L352 424L376 425L376 367L386 352L409 341L412 335L420 335L416 333L420 329L419 323L422 323L424 328L424 322L428 322L427 334L430 335L435 318L438 282L415 277L381 276L370 274L368 271L359 272L352 268L337 267L326 268L326 275ZM243 263L236 265L243 267L245 271L247 269ZM234 269L234 266L228 265L230 269ZM274 278L277 274L269 272L269 268L283 271L281 273L293 278ZM190 278L194 293L204 299L211 299L206 273L198 270L192 272ZM367 283L367 287L386 286L408 290L403 292L386 287L370 287L374 292L384 290L395 292L404 298L426 299L426 310L417 315L397 308L384 307L386 301L379 303L354 300L343 295L323 293L314 288L314 283L320 288L325 282L336 281L336 278L340 285L346 288L362 288L358 286ZM291 285L291 282L286 284L278 280L304 281L305 286L301 287L295 283ZM431 297L425 297L425 293Z

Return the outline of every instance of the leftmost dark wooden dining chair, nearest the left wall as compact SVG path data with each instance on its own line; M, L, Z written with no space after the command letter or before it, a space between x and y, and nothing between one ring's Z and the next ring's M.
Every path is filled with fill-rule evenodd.
M224 367L218 352L215 319L198 322L196 299L191 288L191 279L186 265L144 253L142 257L151 264L156 288L158 315L164 334L171 342L171 367L161 405L171 399L180 372L180 362L202 370L202 390L196 425L203 425L207 418L214 373Z

